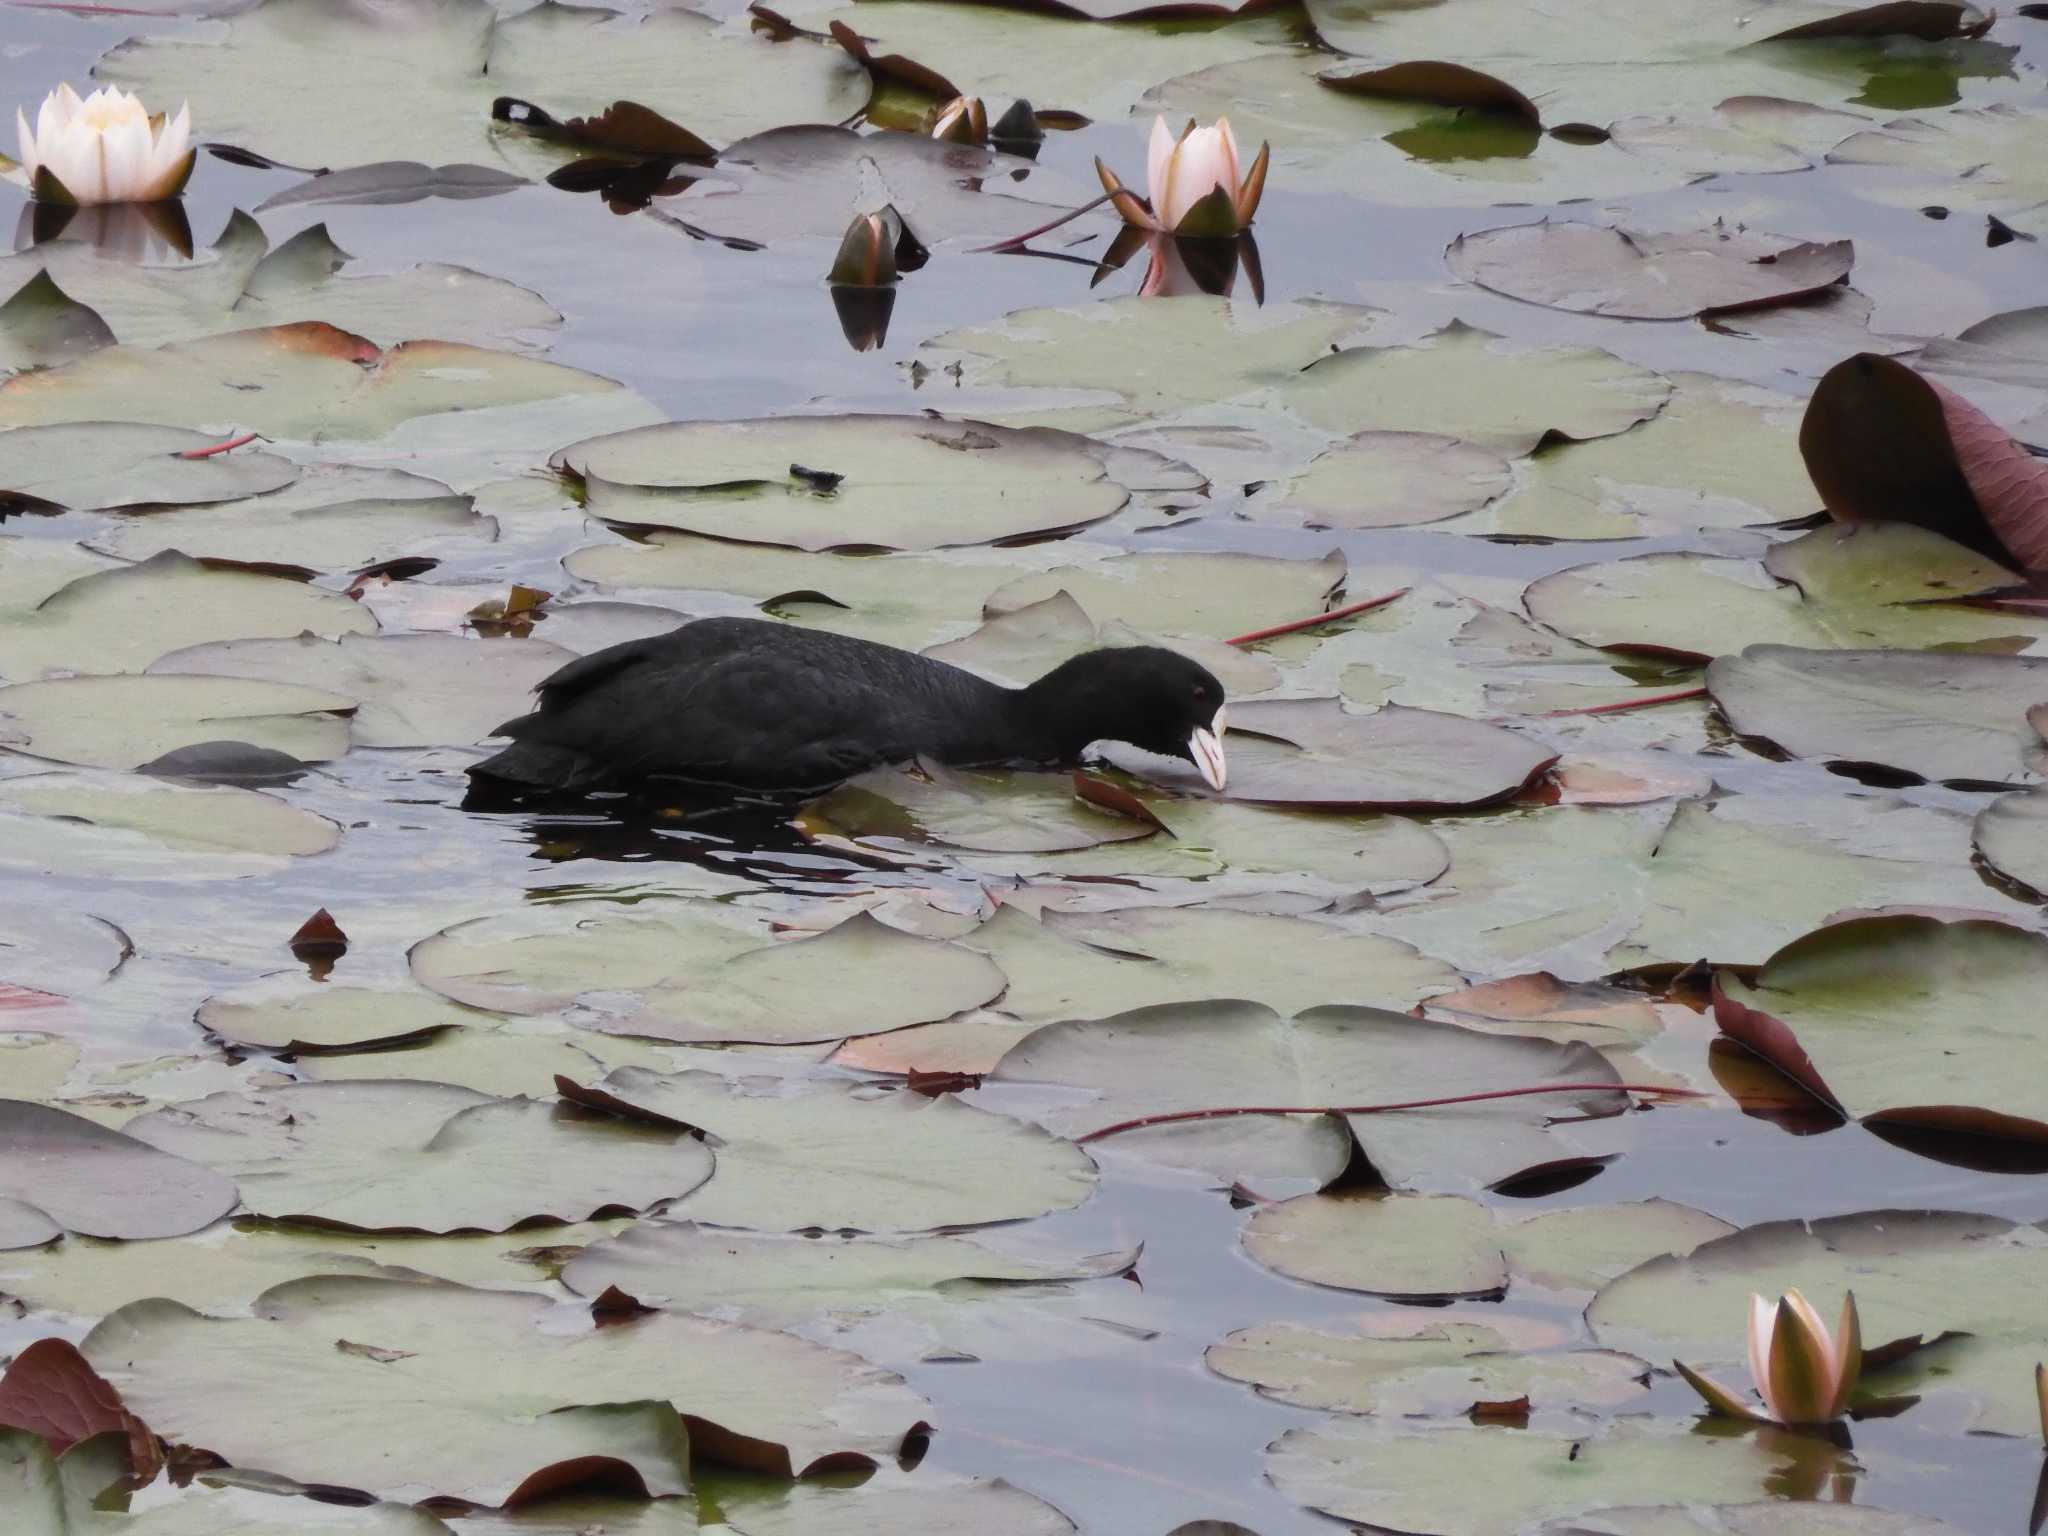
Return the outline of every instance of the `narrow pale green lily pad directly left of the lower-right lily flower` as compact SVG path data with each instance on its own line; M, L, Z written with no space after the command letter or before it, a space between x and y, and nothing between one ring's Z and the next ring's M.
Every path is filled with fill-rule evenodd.
M1614 1350L1511 1354L1481 1323L1425 1323L1413 1333L1319 1333L1268 1323L1231 1333L1204 1356L1219 1376L1296 1407L1389 1417L1442 1417L1475 1403L1614 1409L1645 1391L1649 1364Z

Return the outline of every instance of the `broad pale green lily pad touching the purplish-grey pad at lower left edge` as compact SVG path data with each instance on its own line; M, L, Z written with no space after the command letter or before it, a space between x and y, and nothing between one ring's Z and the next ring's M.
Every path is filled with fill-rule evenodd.
M711 1178L655 1126L446 1083L295 1083L129 1120L152 1147L231 1171L258 1217L360 1231L506 1231L641 1210Z

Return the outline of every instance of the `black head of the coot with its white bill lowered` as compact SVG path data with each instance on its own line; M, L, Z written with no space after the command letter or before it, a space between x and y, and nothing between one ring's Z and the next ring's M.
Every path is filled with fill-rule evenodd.
M1090 741L1126 741L1192 762L1223 788L1223 684L1200 662L1157 645L1087 651L1028 688L1061 756Z

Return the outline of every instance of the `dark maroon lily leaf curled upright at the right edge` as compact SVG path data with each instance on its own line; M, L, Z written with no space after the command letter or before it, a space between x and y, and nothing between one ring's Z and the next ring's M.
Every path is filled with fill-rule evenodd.
M1829 369L1800 453L1839 522L1917 522L2017 569L2048 569L2048 465L1905 362L1860 352Z

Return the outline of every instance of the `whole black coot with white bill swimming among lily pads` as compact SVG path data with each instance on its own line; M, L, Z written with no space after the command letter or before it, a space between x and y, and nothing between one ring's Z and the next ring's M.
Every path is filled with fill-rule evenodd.
M1092 741L1192 762L1223 788L1223 684L1153 645L1087 651L1001 688L893 645L768 618L698 618L569 662L494 735L473 793L561 795L647 778L825 788L934 758L956 768L1069 764Z

